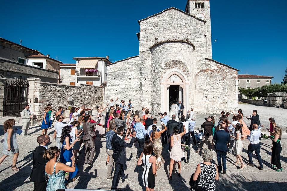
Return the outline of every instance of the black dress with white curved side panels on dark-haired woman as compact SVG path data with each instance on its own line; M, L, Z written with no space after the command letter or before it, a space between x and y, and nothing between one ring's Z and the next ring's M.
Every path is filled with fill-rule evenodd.
M144 155L142 161L144 163L143 182L145 187L155 188L155 175L152 173L152 163L149 162L149 157L152 155Z

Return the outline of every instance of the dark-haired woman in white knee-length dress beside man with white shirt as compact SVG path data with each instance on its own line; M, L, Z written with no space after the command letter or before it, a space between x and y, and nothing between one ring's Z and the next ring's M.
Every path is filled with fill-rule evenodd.
M242 157L240 154L242 153L242 148L243 148L243 144L242 144L241 139L244 139L244 138L242 137L241 131L242 131L241 130L241 124L237 123L235 125L234 133L233 133L233 135L230 135L230 137L233 137L235 139L233 152L236 154L236 163L234 163L234 164L236 165L236 164L241 163L240 168L243 169L245 167L245 164L243 163L243 160L242 160Z

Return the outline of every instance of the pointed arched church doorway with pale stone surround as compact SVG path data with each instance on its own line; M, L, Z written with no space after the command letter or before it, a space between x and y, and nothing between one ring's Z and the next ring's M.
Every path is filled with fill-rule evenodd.
M178 101L182 102L186 113L189 105L189 81L183 72L173 68L161 80L161 112L169 113L170 106L178 104Z

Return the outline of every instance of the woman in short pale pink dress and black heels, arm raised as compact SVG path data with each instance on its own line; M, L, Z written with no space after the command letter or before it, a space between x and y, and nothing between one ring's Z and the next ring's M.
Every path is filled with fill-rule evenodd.
M174 162L178 165L178 176L180 176L181 171L181 158L184 157L184 152L181 150L181 137L185 134L186 130L183 126L183 132L178 134L179 130L177 127L173 128L173 135L170 136L170 176L169 180L172 180L172 170Z

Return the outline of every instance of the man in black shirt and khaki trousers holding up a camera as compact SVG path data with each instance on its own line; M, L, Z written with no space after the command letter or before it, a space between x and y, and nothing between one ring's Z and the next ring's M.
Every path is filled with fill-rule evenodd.
M211 141L212 141L212 128L213 128L213 123L211 122L211 117L209 116L208 118L205 118L205 122L201 125L201 129L204 129L204 137L202 138L200 145L197 149L197 151L194 151L195 153L199 154L203 144L207 141L207 146L208 149L211 150Z

